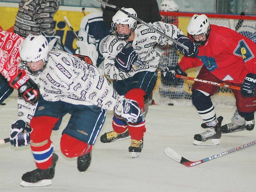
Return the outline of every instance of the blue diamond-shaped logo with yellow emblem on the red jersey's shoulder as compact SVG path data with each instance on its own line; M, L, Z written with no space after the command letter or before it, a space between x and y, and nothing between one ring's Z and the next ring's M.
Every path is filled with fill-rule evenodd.
M238 45L234 51L234 55L241 56L244 60L244 63L254 57L252 51L250 50L244 39L238 42Z

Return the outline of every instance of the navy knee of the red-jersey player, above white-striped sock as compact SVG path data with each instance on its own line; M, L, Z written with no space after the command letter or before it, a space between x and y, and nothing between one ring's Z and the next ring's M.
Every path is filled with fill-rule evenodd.
M199 90L192 91L192 103L196 108L199 108L202 104L207 103L212 105L212 100L209 93L201 92Z

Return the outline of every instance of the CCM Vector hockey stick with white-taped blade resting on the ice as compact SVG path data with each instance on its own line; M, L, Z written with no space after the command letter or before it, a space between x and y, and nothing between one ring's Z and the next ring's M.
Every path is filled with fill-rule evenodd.
M229 149L229 150L224 151L222 153L206 157L206 158L201 159L199 161L189 161L188 159L185 159L184 157L180 156L177 152L175 152L173 149L171 149L169 147L164 149L164 153L165 153L165 155L167 155L168 157L172 158L174 161L177 161L180 164L183 164L183 165L185 165L187 167L193 167L195 165L202 164L202 163L207 162L207 161L211 161L212 159L216 159L216 158L218 158L220 156L227 155L229 153L232 153L232 152L238 151L240 149L252 146L254 144L256 144L256 140L252 141L252 142L249 142L249 143L246 143L244 145L235 147L233 149Z

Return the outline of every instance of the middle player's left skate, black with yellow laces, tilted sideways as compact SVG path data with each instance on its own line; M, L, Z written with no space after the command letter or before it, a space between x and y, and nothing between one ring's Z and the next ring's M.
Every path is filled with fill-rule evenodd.
M100 136L101 143L110 143L112 141L122 140L130 138L128 129L123 133L117 133L115 131L106 132Z

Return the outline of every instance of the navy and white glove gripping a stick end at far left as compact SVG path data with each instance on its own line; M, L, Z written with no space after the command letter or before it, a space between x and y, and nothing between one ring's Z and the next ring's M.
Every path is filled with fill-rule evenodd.
M11 144L14 147L29 145L32 128L23 120L18 120L12 124L10 132Z

